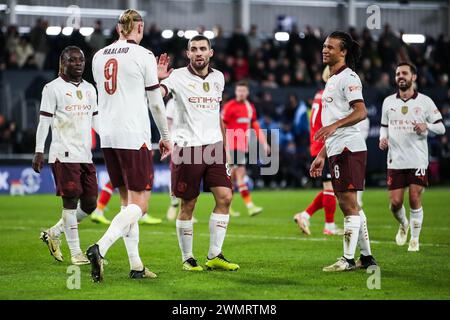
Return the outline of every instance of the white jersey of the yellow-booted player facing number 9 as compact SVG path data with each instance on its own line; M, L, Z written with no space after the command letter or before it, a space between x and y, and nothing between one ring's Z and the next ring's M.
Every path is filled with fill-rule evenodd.
M209 69L206 77L191 66L174 70L161 82L174 100L172 137L181 147L195 147L222 141L220 102L225 80L222 72Z

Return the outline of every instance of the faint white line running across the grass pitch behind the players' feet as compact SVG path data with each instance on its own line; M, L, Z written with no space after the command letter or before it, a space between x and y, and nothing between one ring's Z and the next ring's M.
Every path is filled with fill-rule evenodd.
M35 228L30 227L4 227L0 226L0 230L10 230L10 231L26 231L26 230L36 230ZM101 230L98 229L92 229L92 228L81 228L81 232L89 232L89 233L98 233ZM176 232L163 232L163 231L148 231L148 230L142 230L141 229L141 235L143 234L150 234L150 235L171 235L176 236ZM196 235L200 237L209 237L209 233L196 233ZM229 238L240 238L240 239L255 239L255 240L276 240L276 241L315 241L315 242L342 242L342 238L339 236L330 236L327 238L312 238L312 237L306 237L306 236L299 236L299 237L289 237L289 236L263 236L258 234L233 234L229 233L227 234L227 237ZM388 245L395 245L395 241L380 241L380 240L370 240L371 244L388 244ZM424 247L440 247L440 248L447 248L450 247L450 244L446 243L420 243L421 246Z

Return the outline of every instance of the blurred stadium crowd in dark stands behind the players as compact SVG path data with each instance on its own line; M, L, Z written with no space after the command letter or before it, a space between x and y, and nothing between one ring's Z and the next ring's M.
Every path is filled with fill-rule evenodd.
M97 21L94 32L84 37L79 30L73 30L70 36L62 33L56 36L46 34L48 22L37 19L28 34L19 34L17 26L3 27L0 23L0 73L2 70L58 70L58 57L67 45L80 47L86 55L86 74L84 78L92 81L91 58L105 45L115 41L116 32L104 35L101 21ZM199 26L199 33L205 28ZM252 86L261 88L252 95L263 129L280 129L280 174L267 177L268 184L279 186L296 186L302 184L307 176L307 168L298 167L309 162L309 122L308 112L311 100L302 101L295 94L295 87L316 87L322 84L322 43L326 34L320 29L306 26L300 30L294 26L289 33L289 40L279 42L264 38L257 26L251 26L246 34L236 28L229 36L224 36L220 26L214 28L212 40L215 56L212 66L225 75L226 84L232 86L240 80L248 80ZM450 42L444 35L428 36L423 44L408 45L402 41L402 31L396 32L389 25L384 26L377 39L368 29L361 32L350 28L349 33L359 42L362 57L357 66L364 86L376 88L384 96L391 94L394 83L395 65L399 61L411 61L418 68L417 84L419 88L443 88L447 95L435 99L441 109L447 127L447 136L431 140L431 154L437 158L450 159ZM149 25L141 42L152 50L156 56L167 52L171 56L173 67L186 64L184 50L187 39L177 36L174 30L170 39L162 37L162 30L155 24ZM292 94L284 103L274 101L270 90L292 88ZM231 98L228 93L224 100ZM7 150L15 152L33 152L20 148L16 125L0 115L0 146L12 146ZM32 144L29 144L30 146ZM295 161L301 160L301 161ZM445 166L445 163L443 163Z

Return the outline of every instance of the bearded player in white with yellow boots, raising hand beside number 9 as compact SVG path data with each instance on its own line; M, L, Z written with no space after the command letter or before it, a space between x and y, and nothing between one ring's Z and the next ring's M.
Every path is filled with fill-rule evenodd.
M215 199L209 221L210 246L206 267L233 271L239 266L222 254L232 199L232 184L225 159L225 132L220 119L224 76L209 67L213 49L205 36L197 35L189 40L187 56L190 60L187 67L167 72L167 78L160 76L165 78L161 82L163 95L172 95L175 102L172 192L181 199L176 228L183 269L203 270L192 251L192 214L203 180L204 188L210 190ZM206 159L205 154L213 159Z

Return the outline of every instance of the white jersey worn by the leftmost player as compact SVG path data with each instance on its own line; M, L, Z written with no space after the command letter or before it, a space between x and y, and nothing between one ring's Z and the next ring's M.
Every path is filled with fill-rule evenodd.
M61 77L42 90L40 114L52 117L49 163L92 163L92 117L97 95L92 84L76 85Z

